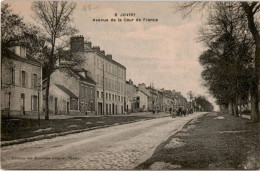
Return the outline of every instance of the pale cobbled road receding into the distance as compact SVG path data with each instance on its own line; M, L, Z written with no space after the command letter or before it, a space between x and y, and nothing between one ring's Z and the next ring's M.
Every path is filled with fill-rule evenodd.
M163 117L1 148L3 169L133 169L188 121Z

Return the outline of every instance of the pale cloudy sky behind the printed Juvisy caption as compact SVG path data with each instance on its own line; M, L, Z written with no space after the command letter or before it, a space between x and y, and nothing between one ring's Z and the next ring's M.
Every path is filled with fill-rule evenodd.
M15 13L33 22L31 2L9 2ZM215 99L202 86L199 55L206 49L196 41L206 17L199 12L183 18L175 11L177 2L93 2L78 1L73 14L74 26L92 45L126 67L126 79L136 85L151 83L155 88L188 91L204 95L218 109ZM115 13L117 17L115 17ZM120 17L134 13L134 17ZM93 19L120 18L122 22L94 22ZM134 19L124 22L124 18ZM140 18L140 22L136 22ZM157 22L146 22L157 19Z

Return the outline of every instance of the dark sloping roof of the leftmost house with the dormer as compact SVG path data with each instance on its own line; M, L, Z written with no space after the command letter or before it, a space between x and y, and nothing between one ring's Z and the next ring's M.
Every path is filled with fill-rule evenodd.
M10 59L18 60L18 61L25 62L25 63L31 64L31 65L40 66L40 67L43 66L41 62L39 62L38 60L33 58L28 53L26 54L26 58L23 58L23 57L15 54L13 51L7 50L6 56Z

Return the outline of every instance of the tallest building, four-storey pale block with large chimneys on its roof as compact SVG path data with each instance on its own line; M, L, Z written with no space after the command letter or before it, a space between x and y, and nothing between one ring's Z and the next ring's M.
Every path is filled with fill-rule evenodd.
M70 44L71 51L86 58L83 67L96 82L96 114L123 114L126 108L126 68L99 46L85 42L83 36L72 37Z

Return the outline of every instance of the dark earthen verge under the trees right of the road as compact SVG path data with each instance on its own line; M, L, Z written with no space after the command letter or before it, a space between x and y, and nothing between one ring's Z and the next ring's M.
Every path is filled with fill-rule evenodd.
M259 170L260 123L210 113L187 123L136 169Z

